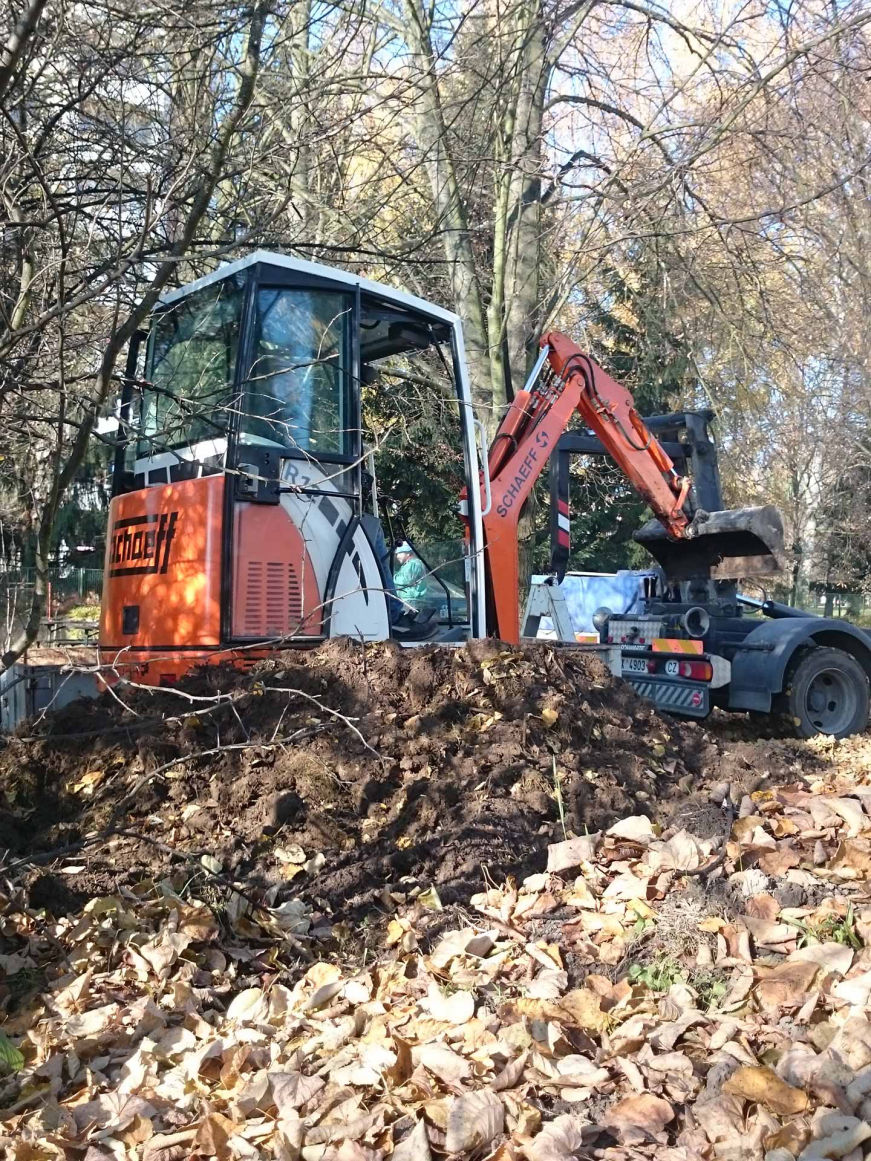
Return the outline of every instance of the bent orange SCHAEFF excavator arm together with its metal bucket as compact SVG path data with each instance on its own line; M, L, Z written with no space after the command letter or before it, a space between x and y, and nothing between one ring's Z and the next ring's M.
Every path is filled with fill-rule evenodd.
M564 334L546 334L540 346L530 381L505 413L488 455L490 504L482 511L491 633L503 641L519 641L520 511L575 413L654 512L661 531L657 535L648 531L643 542L667 572L681 577L683 560L697 570L692 575L718 579L730 568L735 576L748 576L780 567L783 526L775 509L698 511L691 479L676 471L629 391ZM568 512L557 518L560 538L568 542ZM694 549L697 538L704 538L700 553ZM690 542L693 550L688 555ZM734 565L725 563L729 561Z

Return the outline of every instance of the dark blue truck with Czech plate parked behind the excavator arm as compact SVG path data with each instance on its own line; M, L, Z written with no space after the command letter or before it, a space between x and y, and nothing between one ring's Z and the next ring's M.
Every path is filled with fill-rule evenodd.
M713 412L682 411L645 420L698 503L722 509ZM550 462L550 575L568 563L569 476L577 455L606 456L591 431L567 432ZM628 612L597 610L593 621L612 671L661 709L706 717L714 707L776 715L799 736L843 737L869 720L871 635L764 594L742 593L721 562L699 560L658 521L635 534L658 568L640 578ZM734 564L734 562L733 562Z

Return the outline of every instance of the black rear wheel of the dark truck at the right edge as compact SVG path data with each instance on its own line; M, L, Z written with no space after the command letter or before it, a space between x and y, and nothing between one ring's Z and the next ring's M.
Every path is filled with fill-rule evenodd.
M797 658L782 708L792 719L799 737L858 734L868 726L865 671L843 649L814 646Z

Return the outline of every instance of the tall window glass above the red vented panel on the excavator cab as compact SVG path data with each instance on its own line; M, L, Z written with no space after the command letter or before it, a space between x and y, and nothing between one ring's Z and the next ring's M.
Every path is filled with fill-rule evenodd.
M318 459L347 455L351 298L261 287L239 431Z

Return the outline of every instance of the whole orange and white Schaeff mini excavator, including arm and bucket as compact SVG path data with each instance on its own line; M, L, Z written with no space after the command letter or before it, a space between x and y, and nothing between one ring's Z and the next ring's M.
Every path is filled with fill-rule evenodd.
M776 510L703 511L628 391L562 334L489 449L460 319L344 271L257 252L166 295L146 339L124 376L100 629L103 664L143 683L338 635L518 641L518 517L576 414L650 505L641 535L667 574L690 547L710 583L779 567ZM440 527L465 485L453 541L409 535L413 511L395 527L379 492L397 426L367 416L403 391L438 412L427 462L453 502L444 479L417 498L432 515L446 497ZM411 565L394 577L397 540Z

